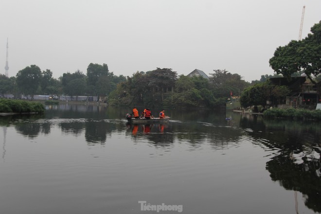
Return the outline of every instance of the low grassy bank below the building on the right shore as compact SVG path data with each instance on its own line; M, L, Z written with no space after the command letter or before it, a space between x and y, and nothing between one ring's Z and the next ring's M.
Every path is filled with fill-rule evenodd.
M270 108L263 112L263 116L267 118L309 119L320 121L321 110Z

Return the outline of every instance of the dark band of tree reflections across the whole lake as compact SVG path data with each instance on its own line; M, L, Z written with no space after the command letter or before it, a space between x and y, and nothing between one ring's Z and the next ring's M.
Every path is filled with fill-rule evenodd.
M288 120L266 120L259 115L206 110L168 109L168 124L126 124L128 108L90 105L47 106L45 115L0 118L4 140L6 129L14 126L26 138L49 135L52 129L75 137L84 136L90 145L107 144L114 134L132 143L147 142L152 148L170 151L177 144L187 144L189 151L206 147L218 150L251 142L268 152L266 163L271 180L286 190L303 193L306 207L321 212L321 124ZM155 112L156 110L153 109ZM226 120L226 118L230 120ZM146 143L146 144L147 144Z

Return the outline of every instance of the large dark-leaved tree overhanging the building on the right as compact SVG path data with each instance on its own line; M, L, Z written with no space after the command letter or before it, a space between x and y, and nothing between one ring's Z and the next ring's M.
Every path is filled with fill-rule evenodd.
M321 74L321 21L311 27L311 33L301 41L292 40L278 47L269 64L277 74L285 77L303 70L321 94L321 84L313 79Z

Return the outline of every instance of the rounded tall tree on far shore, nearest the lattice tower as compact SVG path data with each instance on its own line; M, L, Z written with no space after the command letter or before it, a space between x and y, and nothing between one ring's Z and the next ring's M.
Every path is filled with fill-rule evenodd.
M20 71L16 75L18 88L28 98L31 95L31 99L34 99L36 90L38 89L41 81L41 70L36 65L31 65Z

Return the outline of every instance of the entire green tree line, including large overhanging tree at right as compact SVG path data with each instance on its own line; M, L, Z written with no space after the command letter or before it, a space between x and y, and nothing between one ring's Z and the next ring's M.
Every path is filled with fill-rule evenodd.
M36 65L18 71L15 77L0 75L0 96L56 94L70 96L107 97L111 105L144 105L170 107L217 107L232 95L241 97L243 107L265 105L269 100L276 105L289 93L287 87L272 85L271 77L300 76L303 73L317 86L321 94L321 21L311 28L301 41L292 40L278 47L269 60L274 75L262 75L251 83L237 73L213 70L209 79L201 76L179 75L169 68L137 71L132 76L114 75L107 64L90 63L86 74L82 71L63 73L53 78L50 70L41 71Z

